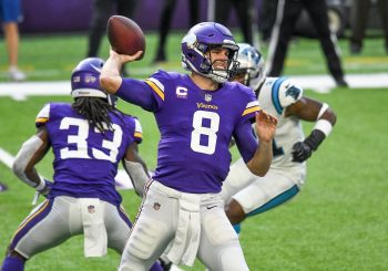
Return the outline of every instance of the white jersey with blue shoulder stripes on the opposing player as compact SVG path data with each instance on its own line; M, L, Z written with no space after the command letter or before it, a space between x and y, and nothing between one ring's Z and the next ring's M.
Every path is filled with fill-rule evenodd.
M258 102L264 111L277 117L274 137L273 169L305 167L305 163L293 163L293 145L304 140L300 119L285 117L285 108L303 96L303 90L287 77L267 77L259 91Z

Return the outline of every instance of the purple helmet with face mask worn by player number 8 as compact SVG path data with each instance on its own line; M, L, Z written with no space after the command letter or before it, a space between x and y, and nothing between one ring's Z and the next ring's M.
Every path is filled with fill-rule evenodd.
M213 69L212 60L205 54L216 46L229 50L226 70ZM182 66L223 83L233 77L236 72L237 51L238 45L227 28L216 22L202 22L188 30L182 40Z

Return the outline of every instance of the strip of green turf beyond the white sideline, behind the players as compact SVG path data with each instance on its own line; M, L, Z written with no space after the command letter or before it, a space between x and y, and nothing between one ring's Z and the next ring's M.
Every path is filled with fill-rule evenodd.
M167 39L169 63L154 65L157 37L154 32L146 33L146 52L142 61L131 63L131 74L136 77L147 76L157 66L165 70L181 69L181 40L183 32L175 31ZM242 41L236 34L237 42ZM85 56L86 35L84 33L65 35L23 35L20 44L20 67L27 72L30 81L68 80L74 63ZM350 55L348 41L339 41L343 62L347 73L375 73L388 71L388 55L384 50L384 39L366 40L361 55ZM6 52L3 39L0 39L0 52ZM262 51L266 55L267 46ZM285 74L325 74L325 59L317 40L296 39L289 46L289 58L286 60ZM100 50L100 56L106 59L109 43L105 39ZM6 58L0 58L0 82L7 81Z

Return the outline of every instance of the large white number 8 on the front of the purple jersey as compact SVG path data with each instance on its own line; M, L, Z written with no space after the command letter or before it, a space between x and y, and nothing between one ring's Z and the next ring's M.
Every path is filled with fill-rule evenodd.
M203 119L211 121L210 127L203 126ZM196 153L212 155L215 152L215 145L217 144L217 132L219 128L219 116L215 112L197 111L193 116L193 127L191 148ZM201 136L207 136L207 145L201 145Z

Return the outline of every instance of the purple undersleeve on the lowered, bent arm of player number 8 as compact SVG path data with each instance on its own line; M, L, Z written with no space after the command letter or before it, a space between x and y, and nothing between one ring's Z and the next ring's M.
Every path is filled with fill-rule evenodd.
M248 163L254 156L258 146L257 138L252 131L252 124L248 119L237 126L234 138L244 161Z

